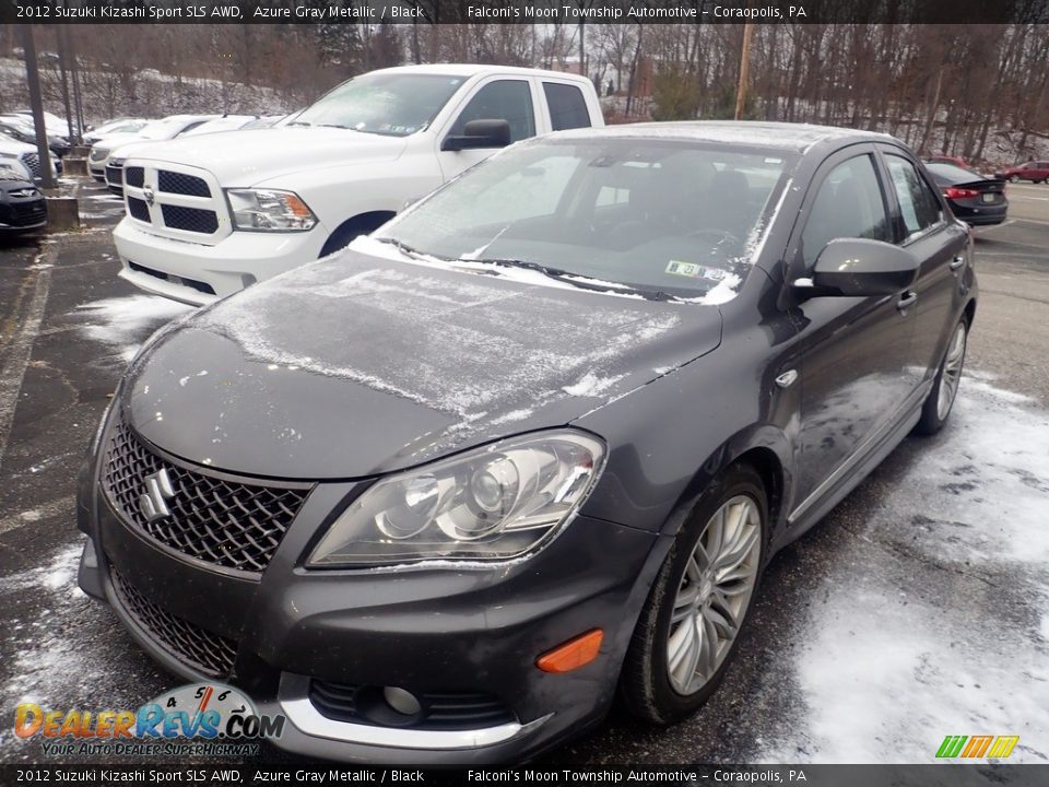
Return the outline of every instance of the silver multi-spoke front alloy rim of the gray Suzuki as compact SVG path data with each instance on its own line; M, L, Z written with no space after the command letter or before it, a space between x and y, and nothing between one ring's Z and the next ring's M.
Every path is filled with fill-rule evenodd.
M757 583L761 541L761 512L747 495L727 501L704 527L670 619L667 672L679 694L698 691L728 656Z

